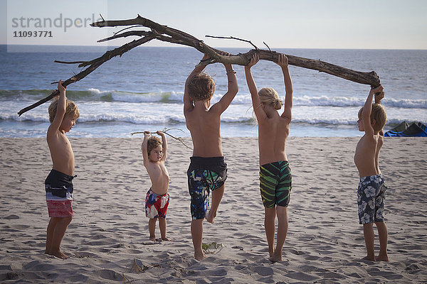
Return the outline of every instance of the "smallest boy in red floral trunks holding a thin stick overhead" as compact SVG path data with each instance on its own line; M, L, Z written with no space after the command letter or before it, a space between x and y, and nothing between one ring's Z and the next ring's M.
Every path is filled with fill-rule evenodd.
M164 166L167 153L167 140L162 131L157 131L159 138L150 136L149 131L144 131L144 141L142 141L142 158L144 167L152 182L145 197L145 216L149 218L148 231L151 241L170 241L166 236L166 212L169 206L169 173ZM156 239L154 231L156 222L159 219L161 239Z

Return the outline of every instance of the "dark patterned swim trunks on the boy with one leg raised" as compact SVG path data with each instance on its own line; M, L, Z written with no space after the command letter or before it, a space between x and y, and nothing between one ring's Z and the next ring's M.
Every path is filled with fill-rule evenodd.
M209 193L224 185L227 164L224 157L191 157L187 177L191 197L191 217L204 219L209 207Z

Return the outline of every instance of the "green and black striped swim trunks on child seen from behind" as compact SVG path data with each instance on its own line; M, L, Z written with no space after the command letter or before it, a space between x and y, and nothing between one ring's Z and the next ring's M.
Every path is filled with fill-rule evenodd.
M292 173L287 160L260 166L260 192L264 207L288 207Z

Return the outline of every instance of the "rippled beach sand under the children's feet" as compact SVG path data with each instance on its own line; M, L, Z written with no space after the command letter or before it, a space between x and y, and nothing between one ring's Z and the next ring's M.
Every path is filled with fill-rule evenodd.
M167 234L148 239L150 186L139 138L71 138L74 217L66 260L43 254L48 212L43 182L51 158L43 138L0 138L1 283L427 283L427 139L386 138L380 168L389 263L366 256L357 217L359 138L289 138L292 195L283 261L270 263L258 189L256 138L224 138L226 192L204 243L223 249L195 261L186 169L191 151L169 138ZM185 139L189 145L191 141ZM375 229L376 232L376 229ZM156 235L159 237L157 226ZM376 253L379 242L376 236ZM144 270L137 273L135 263Z

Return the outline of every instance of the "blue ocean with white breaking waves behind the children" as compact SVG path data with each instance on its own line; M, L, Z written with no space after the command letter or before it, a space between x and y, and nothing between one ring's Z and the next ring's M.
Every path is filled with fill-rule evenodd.
M0 137L45 137L48 104L22 116L16 113L51 94L56 84L83 70L54 60L92 60L105 51L101 47L27 46L26 53L8 53L0 45ZM250 48L219 48L232 54ZM37 52L35 52L37 51ZM43 52L41 52L43 51ZM319 59L370 72L384 86L383 101L388 116L385 131L402 121L427 124L427 50L336 50L276 49L280 53ZM139 47L104 63L83 80L70 84L66 95L80 110L80 118L69 137L130 137L135 131L174 129L174 136L189 137L182 97L184 82L201 59L194 48ZM256 137L251 96L243 66L234 66L239 91L221 116L223 137ZM222 64L209 65L206 72L216 80L212 100L226 92ZM315 70L290 65L293 109L290 136L361 136L357 111L363 106L369 86L350 82ZM261 60L253 67L258 89L275 88L285 96L283 75L273 62Z

